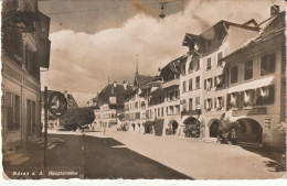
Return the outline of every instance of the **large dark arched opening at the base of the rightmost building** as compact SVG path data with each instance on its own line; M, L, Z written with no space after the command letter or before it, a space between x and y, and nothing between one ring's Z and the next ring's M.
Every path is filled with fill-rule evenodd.
M238 141L246 143L263 143L263 128L253 119L237 120L240 128L236 130Z

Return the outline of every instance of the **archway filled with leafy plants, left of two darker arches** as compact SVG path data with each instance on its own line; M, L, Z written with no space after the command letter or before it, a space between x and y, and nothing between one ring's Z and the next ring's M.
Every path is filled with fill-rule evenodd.
M184 129L183 132L185 136L189 138L199 138L200 136L200 121L196 118L189 117L183 121Z

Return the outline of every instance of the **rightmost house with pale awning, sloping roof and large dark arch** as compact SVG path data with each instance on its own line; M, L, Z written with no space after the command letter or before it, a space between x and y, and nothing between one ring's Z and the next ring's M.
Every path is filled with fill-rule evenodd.
M258 37L222 61L227 74L226 116L240 123L242 142L285 145L285 12L273 14Z

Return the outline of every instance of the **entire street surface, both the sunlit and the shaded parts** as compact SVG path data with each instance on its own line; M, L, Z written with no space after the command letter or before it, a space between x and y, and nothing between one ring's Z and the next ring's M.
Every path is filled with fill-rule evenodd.
M57 131L49 136L64 143L47 151L47 169L76 169L82 178L262 179L285 174L268 167L270 158L236 145L107 131L86 132L83 151L79 132ZM43 151L31 156L21 167L42 167Z

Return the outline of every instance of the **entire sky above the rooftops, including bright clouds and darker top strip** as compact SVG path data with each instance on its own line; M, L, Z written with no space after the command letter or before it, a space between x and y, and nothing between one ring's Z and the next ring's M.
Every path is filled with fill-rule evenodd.
M157 75L158 67L187 53L185 33L200 34L220 20L244 23L269 17L274 3L284 0L39 0L51 18L49 72L42 86L72 92L79 106L111 80L131 81L139 73ZM138 55L138 57L137 57Z

